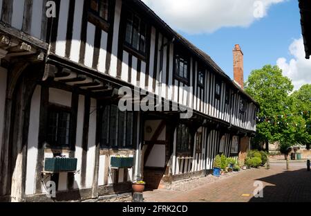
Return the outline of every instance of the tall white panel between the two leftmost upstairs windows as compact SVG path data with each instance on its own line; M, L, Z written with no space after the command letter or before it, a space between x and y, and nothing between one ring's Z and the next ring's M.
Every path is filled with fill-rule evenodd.
M119 26L121 17L122 1L115 1L115 21L113 24L113 44L111 50L111 68L110 75L115 77L117 75L117 46L119 41Z

